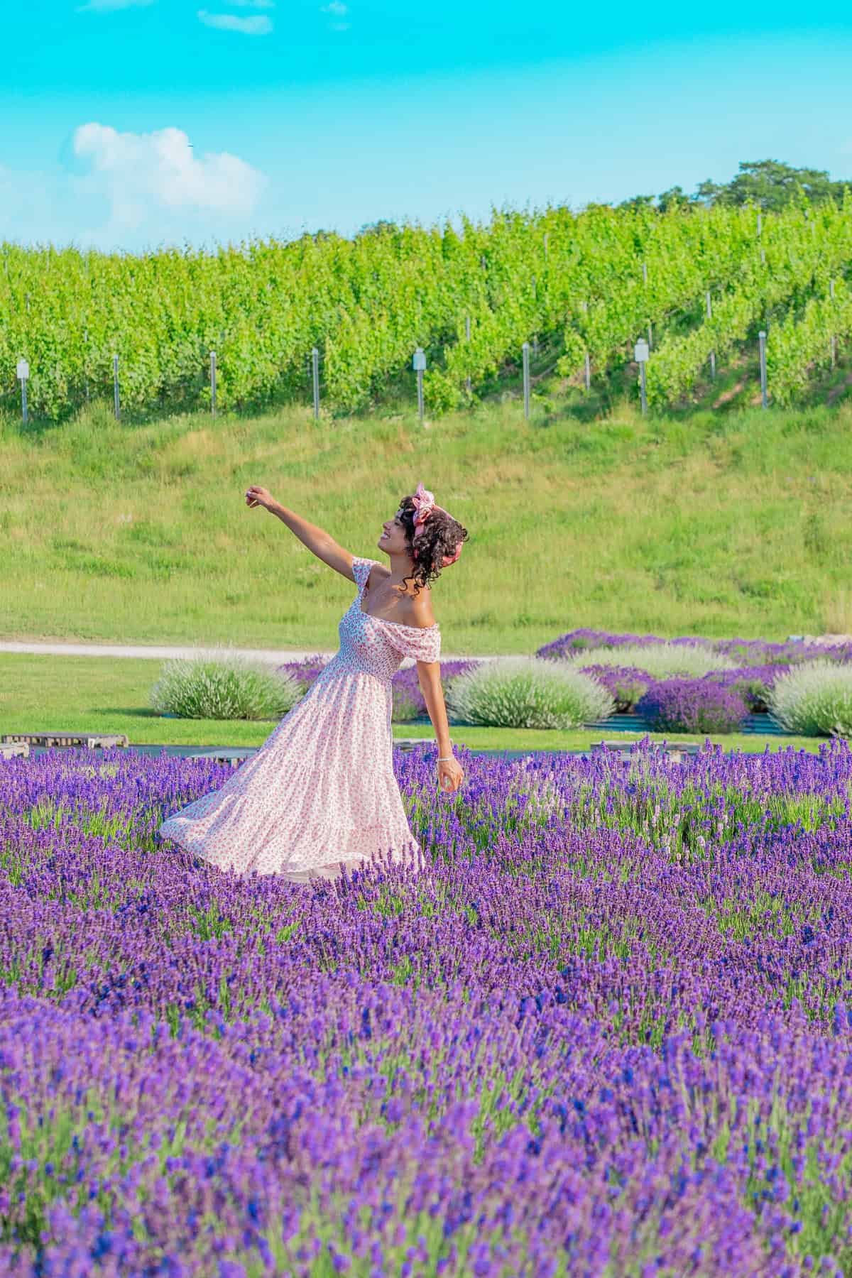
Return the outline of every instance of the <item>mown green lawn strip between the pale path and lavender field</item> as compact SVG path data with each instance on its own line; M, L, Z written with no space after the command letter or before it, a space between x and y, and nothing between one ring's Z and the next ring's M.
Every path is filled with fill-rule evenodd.
M148 694L160 662L135 657L54 657L0 653L0 736L5 732L126 732L132 745L262 745L275 722L171 720L151 709ZM580 750L600 740L631 741L640 734L581 728L576 732L451 725L452 740L474 750ZM395 723L395 737L433 739L429 723ZM669 732L651 740L704 741ZM797 746L818 750L823 737L710 736L726 750Z

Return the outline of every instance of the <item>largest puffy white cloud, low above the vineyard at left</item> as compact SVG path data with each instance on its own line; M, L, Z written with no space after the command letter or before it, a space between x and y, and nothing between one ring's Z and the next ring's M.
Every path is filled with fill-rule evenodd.
M115 231L141 226L164 210L247 215L266 185L259 170L227 151L197 158L186 134L175 128L118 133L109 125L82 124L73 147L92 166L74 181L82 192L109 201Z

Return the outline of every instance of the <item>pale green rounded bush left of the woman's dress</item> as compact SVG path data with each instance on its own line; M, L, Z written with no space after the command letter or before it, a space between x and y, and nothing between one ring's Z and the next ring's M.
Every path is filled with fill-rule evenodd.
M164 663L151 705L179 718L281 718L303 695L289 674L235 654L224 661L176 658Z

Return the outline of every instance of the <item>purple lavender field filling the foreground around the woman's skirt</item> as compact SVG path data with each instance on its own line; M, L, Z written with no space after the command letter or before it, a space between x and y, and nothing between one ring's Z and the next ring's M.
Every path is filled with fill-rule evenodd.
M0 1272L852 1272L852 755L395 768L419 866L155 829L226 767L0 763Z

